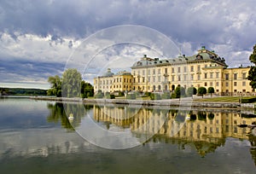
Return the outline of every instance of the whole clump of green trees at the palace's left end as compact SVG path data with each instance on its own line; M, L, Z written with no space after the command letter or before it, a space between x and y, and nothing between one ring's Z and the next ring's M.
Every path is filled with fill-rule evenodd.
M48 78L50 89L47 90L48 96L57 97L82 97L94 96L93 86L82 80L82 75L77 69L69 68L62 77L58 75Z

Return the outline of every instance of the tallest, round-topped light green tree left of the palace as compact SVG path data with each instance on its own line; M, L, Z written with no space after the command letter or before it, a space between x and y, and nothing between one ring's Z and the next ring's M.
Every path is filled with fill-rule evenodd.
M77 69L69 68L62 76L62 96L79 97L81 94L82 76Z

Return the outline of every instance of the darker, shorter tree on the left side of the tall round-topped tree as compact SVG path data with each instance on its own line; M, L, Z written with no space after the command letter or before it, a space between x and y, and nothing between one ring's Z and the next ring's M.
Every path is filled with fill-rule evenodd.
M47 90L48 96L61 96L61 78L58 75L48 78L50 89Z

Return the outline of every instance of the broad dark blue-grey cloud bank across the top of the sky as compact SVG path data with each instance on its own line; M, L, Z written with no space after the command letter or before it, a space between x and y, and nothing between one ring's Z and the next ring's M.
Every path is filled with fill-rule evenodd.
M231 42L236 49L248 49L256 40L252 0L23 0L3 1L0 6L0 30L14 38L17 33L84 38L109 26L137 24L194 47Z

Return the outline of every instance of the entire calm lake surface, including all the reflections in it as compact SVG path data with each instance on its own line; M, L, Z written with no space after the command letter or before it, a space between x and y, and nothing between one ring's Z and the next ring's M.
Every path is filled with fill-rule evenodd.
M256 138L236 126L253 121L252 115L224 111L1 99L0 169L55 174L255 173ZM99 136L99 130L108 133ZM109 132L121 136L111 139Z

